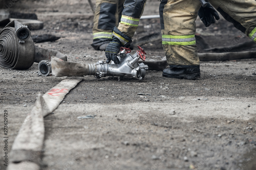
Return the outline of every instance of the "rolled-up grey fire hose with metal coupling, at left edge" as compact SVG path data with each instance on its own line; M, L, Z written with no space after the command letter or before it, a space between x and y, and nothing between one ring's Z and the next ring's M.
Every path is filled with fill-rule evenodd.
M35 61L35 45L26 25L13 20L0 32L0 66L28 69Z

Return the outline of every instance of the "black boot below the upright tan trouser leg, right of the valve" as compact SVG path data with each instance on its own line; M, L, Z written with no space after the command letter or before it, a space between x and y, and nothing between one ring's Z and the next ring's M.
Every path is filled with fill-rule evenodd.
M169 68L163 70L163 76L176 79L196 79L200 77L200 68Z

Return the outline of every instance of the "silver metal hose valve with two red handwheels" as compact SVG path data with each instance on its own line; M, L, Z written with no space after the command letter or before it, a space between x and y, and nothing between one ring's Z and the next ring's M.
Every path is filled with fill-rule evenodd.
M138 46L139 50L134 55L130 54L130 49L121 48L119 64L107 64L103 61L98 61L94 65L97 68L95 77L97 79L106 76L124 76L133 77L134 79L141 80L145 77L148 66L144 63L138 63L140 59L145 61L145 51Z

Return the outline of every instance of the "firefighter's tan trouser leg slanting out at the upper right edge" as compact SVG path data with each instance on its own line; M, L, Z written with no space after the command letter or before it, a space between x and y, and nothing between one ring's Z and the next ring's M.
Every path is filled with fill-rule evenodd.
M234 27L256 42L256 1L255 0L209 0L220 14Z

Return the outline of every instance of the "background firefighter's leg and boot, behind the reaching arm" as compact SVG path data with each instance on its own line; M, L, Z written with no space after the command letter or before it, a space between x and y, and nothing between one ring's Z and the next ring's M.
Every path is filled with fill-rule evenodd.
M112 40L112 28L118 26L125 0L96 0L93 19L93 44L98 49L101 44Z

